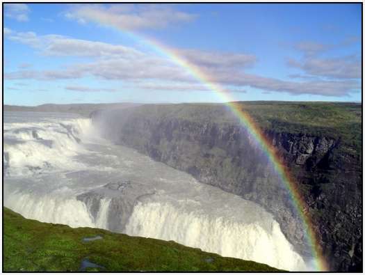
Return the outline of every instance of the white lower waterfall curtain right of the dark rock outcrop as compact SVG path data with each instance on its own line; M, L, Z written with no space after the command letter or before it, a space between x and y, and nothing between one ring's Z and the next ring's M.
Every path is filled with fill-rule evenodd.
M246 214L251 216L253 213ZM125 232L174 240L203 251L263 262L279 269L303 270L305 262L293 251L279 224L269 216L267 219L270 219L269 230L268 220L237 222L206 213L186 212L170 203L139 203L134 207Z

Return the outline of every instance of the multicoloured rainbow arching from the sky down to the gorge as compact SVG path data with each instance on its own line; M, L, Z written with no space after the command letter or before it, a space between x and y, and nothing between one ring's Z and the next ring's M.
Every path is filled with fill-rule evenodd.
M305 227L305 232L307 233L305 237L309 246L311 247L312 256L315 259L316 269L323 272L328 271L328 265L321 252L321 246L318 244L314 227L312 226L309 217L305 214L305 201L303 200L302 196L300 196L297 187L298 185L295 183L293 177L291 177L288 168L284 166L277 150L270 143L270 141L268 141L266 136L263 134L257 123L255 123L250 117L248 112L243 110L242 106L234 102L234 98L232 98L232 95L229 93L229 91L215 83L213 79L200 70L200 68L188 62L184 57L180 56L177 51L166 47L152 38L141 36L140 34L137 35L136 33L131 33L130 31L126 30L122 30L122 33L131 37L133 40L142 41L145 45L154 49L155 52L158 52L162 56L169 58L172 62L179 65L181 68L184 68L184 70L186 70L186 72L188 72L192 77L197 79L197 81L200 81L200 83L204 84L204 86L209 88L209 90L213 91L219 95L222 100L224 100L225 104L238 118L241 125L248 129L248 132L259 143L261 150L265 152L266 156L273 164L280 180L282 180L286 188L289 190L291 201L293 202L300 219L302 219L303 226Z

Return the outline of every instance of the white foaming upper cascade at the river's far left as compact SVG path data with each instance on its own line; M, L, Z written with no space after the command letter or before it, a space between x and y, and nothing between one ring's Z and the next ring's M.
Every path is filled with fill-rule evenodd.
M90 119L5 123L4 130L3 159L10 175L85 168L73 157L85 152L80 141L93 131Z

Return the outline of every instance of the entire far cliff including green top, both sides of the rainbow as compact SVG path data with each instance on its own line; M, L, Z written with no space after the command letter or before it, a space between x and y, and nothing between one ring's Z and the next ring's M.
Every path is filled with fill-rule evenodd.
M331 270L362 269L360 104L244 102L279 150L305 198ZM222 104L144 105L95 111L108 139L255 201L275 215L295 249L309 256L290 194L264 152Z

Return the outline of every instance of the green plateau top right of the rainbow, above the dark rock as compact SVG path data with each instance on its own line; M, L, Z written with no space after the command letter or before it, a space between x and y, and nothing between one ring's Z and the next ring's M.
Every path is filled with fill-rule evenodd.
M242 102L241 105L242 109L248 111L264 128L275 128L285 132L327 133L334 136L348 134L348 129L351 129L361 134L361 104ZM355 125L360 128L356 129Z

